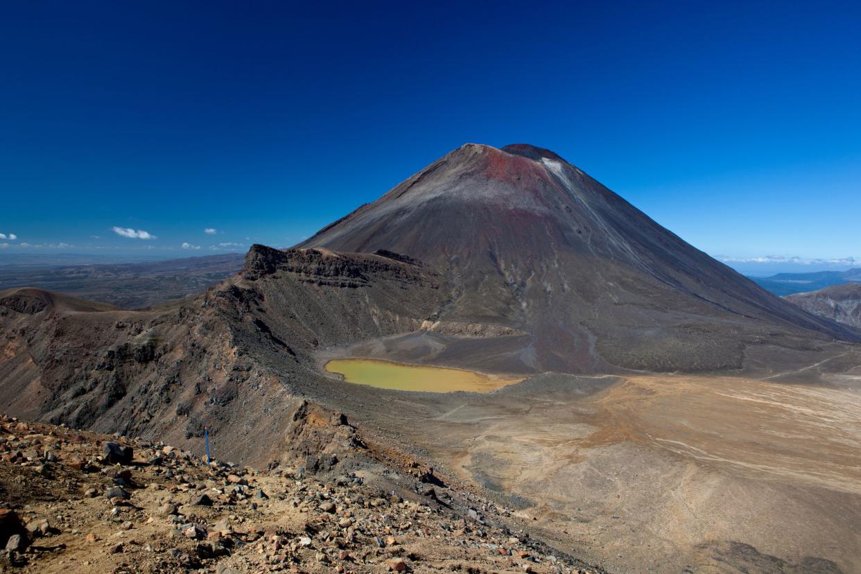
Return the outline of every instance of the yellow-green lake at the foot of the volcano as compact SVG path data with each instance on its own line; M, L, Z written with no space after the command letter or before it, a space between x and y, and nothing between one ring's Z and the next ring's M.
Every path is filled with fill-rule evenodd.
M333 359L325 364L325 370L343 375L349 383L396 391L488 392L523 380L459 368L405 365L379 359Z

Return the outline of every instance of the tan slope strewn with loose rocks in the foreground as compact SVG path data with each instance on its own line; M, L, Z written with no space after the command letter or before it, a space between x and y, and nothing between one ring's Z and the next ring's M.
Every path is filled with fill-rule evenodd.
M405 473L412 490L362 469L257 472L9 417L0 453L0 570L601 571L515 534L492 504L461 513L470 496L428 470Z

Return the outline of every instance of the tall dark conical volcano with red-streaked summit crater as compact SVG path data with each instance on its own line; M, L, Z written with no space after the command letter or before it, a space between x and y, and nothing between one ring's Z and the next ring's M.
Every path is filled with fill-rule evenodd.
M425 326L483 339L445 342L439 361L525 372L714 370L743 367L753 347L858 339L533 145L462 145L300 246L387 250L437 269L450 299Z

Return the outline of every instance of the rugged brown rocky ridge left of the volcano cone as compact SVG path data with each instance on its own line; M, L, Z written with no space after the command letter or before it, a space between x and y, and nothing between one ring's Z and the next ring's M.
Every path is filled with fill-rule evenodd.
M292 421L300 389L322 380L320 346L417 330L442 303L441 285L393 256L256 245L230 280L146 311L2 292L0 410L178 444L207 425L226 454L258 460Z

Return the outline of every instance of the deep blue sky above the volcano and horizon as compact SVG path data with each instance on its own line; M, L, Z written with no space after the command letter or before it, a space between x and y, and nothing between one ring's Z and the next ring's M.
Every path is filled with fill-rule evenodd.
M858 3L305 4L5 5L0 251L288 246L527 142L747 272L861 267Z

